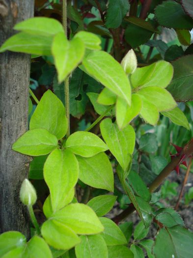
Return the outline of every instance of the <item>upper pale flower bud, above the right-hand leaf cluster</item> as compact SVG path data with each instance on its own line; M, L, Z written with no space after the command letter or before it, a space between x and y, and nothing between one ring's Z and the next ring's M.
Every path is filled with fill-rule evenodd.
M137 66L138 66L138 60L136 57L135 52L133 49L131 49L125 57L123 57L121 61L121 65L126 72L126 74L134 73Z

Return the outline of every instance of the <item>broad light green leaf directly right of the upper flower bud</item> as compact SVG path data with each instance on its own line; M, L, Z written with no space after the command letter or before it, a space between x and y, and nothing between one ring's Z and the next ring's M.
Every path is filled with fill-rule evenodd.
M173 67L169 62L164 60L150 64L148 66L137 68L131 75L133 87L157 86L165 88L173 76Z

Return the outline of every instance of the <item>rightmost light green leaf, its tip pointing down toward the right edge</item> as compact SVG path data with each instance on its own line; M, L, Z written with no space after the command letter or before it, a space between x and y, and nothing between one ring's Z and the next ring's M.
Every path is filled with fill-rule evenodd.
M178 107L167 112L162 112L162 115L169 117L174 124L184 126L186 129L190 130L188 119Z

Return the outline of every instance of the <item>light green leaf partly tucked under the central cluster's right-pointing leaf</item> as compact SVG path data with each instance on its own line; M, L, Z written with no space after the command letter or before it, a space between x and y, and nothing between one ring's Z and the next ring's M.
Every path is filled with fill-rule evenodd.
M113 192L114 177L108 156L102 152L89 158L77 156L79 178L85 184Z

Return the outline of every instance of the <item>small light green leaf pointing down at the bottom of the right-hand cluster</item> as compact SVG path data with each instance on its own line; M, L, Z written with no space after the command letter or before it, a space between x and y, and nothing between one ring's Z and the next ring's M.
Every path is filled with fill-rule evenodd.
M157 107L146 101L144 97L142 97L142 108L139 114L146 123L152 125L156 125L160 117Z

